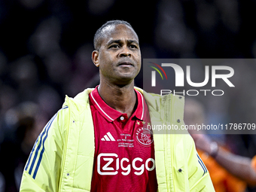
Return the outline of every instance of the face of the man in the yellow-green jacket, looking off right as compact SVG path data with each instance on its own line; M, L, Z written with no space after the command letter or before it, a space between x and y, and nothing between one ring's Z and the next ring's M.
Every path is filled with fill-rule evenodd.
M107 26L103 30L105 35L98 56L93 59L99 66L100 78L113 84L130 83L141 68L141 52L136 32L123 24Z

